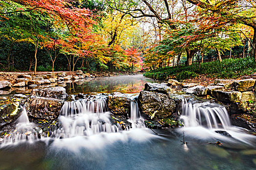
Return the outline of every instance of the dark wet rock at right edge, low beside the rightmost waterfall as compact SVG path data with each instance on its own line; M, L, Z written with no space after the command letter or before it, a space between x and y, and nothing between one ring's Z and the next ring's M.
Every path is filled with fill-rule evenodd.
M247 115L247 114L232 115L231 121L232 121L232 124L235 126L256 131L256 118L251 115Z

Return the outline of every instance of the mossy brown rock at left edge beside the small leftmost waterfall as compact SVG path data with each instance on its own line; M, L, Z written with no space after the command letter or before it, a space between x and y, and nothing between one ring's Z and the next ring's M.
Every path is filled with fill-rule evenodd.
M0 127L14 122L20 114L20 102L0 103Z

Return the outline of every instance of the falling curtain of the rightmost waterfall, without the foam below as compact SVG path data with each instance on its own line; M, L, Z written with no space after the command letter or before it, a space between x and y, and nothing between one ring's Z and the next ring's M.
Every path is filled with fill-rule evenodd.
M192 103L184 99L181 108L180 119L184 121L187 127L203 126L208 129L227 129L231 126L228 112L220 104L210 102Z

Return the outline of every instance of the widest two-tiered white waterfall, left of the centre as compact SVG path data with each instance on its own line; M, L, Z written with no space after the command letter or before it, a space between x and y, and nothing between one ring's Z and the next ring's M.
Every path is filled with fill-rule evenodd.
M74 136L91 136L101 132L115 133L121 127L110 121L105 97L65 102L60 111L61 128L52 136L67 138Z

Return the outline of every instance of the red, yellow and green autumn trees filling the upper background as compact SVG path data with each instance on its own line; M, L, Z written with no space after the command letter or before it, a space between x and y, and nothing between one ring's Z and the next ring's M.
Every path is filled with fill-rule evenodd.
M251 57L255 0L1 0L4 71L144 71Z

